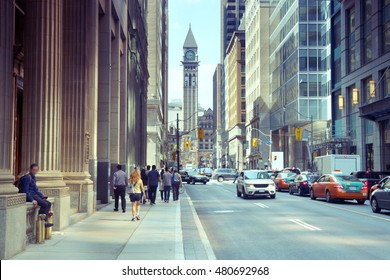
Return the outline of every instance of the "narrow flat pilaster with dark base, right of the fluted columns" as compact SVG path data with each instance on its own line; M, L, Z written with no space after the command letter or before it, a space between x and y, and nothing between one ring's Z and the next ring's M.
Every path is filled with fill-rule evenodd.
M111 102L111 1L105 3L99 18L97 199L109 202L110 102Z

